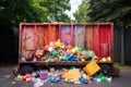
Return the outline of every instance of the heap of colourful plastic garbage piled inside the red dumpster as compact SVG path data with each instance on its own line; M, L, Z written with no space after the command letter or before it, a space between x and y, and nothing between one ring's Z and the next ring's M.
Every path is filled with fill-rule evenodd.
M34 57L33 57L34 55ZM81 47L72 47L68 42L52 41L44 49L35 50L35 54L29 61L62 62L62 61L91 61L111 62L111 58L98 58L93 50L85 50ZM31 59L31 58L29 58ZM28 58L22 57L22 61L28 61Z

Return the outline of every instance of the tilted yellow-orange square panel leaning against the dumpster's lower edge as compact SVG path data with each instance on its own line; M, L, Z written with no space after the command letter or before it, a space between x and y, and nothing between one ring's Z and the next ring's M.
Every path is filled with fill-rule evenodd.
M83 69L90 76L94 75L97 71L100 70L98 64L95 61L91 61Z

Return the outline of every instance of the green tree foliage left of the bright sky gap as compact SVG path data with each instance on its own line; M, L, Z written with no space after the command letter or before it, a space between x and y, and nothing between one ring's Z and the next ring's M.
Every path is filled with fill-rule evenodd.
M19 25L21 22L69 22L64 13L70 0L0 0L0 23Z

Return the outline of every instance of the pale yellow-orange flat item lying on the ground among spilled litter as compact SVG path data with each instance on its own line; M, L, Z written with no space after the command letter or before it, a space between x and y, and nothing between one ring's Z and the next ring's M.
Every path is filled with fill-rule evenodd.
M63 73L66 79L81 78L80 71L78 69L70 70L67 73Z

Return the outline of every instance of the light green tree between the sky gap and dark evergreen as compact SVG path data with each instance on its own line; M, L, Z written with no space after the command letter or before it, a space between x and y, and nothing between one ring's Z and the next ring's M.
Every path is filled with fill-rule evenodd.
M75 17L75 22L78 23L85 23L90 21L90 16L87 14L91 10L87 10L90 7L86 0L82 0L82 3L79 5L79 9L73 13Z

